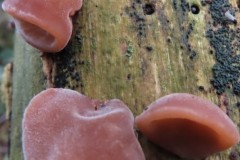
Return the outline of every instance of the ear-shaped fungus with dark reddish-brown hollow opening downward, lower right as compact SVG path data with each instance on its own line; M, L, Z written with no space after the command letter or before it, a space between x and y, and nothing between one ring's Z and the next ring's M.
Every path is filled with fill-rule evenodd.
M158 99L136 117L136 124L152 142L187 159L203 158L239 142L236 126L222 110L186 93Z

